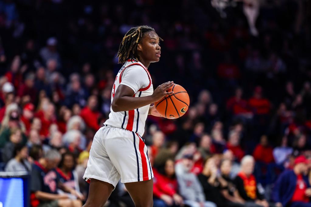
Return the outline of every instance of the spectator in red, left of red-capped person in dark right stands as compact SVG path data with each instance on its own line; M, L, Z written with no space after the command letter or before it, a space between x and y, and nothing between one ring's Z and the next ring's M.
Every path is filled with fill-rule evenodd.
M242 98L243 90L242 88L237 88L235 90L234 97L231 97L227 101L227 110L232 112L234 115L244 115L247 117L252 116L252 112L249 109L248 103Z

